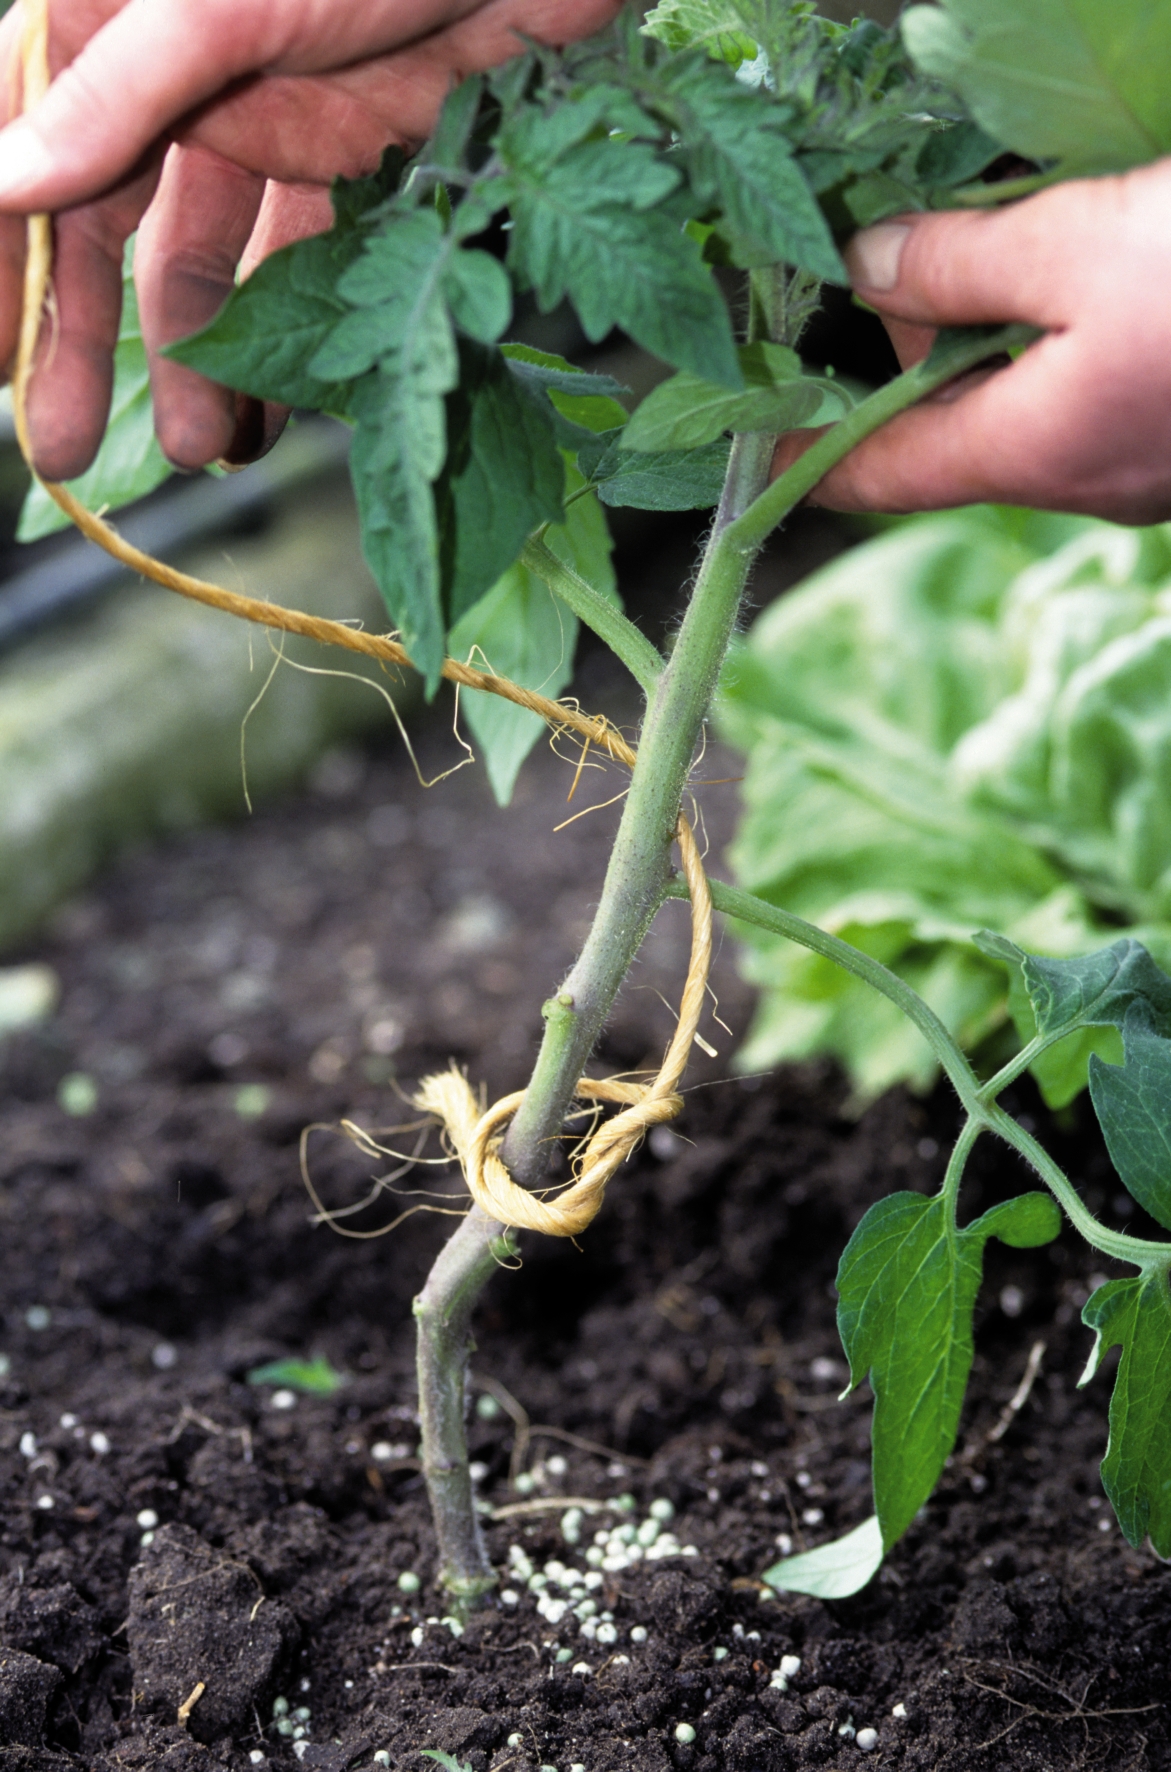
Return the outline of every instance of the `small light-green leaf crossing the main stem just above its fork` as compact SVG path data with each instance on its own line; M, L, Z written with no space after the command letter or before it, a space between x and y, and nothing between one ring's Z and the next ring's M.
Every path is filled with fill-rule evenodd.
M779 344L741 346L744 393L730 393L700 376L671 376L647 395L622 438L622 448L659 454L712 443L725 431L797 431L829 424L849 409L849 395L824 377L806 376L801 358Z

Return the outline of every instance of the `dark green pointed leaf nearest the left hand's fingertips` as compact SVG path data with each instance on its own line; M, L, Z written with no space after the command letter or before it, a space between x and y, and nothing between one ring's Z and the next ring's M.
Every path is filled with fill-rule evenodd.
M356 230L335 229L264 259L202 331L165 356L257 400L340 411L338 377L310 369L347 307L337 285L361 250Z

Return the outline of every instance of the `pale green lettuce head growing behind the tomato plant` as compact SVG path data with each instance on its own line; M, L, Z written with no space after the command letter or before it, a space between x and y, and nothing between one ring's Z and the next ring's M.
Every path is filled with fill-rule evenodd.
M767 610L725 670L748 753L737 879L893 966L967 1049L1035 1026L971 930L1049 955L1127 925L1171 960L1171 530L964 510L916 517ZM833 1053L868 1099L937 1067L891 1003L746 930L746 1069ZM1086 1086L1086 1033L1033 1063Z

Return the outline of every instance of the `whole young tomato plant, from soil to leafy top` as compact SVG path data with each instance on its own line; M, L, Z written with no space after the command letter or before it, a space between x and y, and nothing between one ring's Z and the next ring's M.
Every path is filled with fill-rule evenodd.
M632 762L625 810L585 948L544 1005L528 1090L478 1123L455 1129L448 1118L469 1182L478 1150L480 1180L491 1159L501 1187L523 1196L542 1180L574 1097L615 1099L613 1086L606 1097L597 1081L581 1081L583 1069L664 898L693 898L702 955L707 888L689 859L680 801L760 546L861 438L1033 337L1022 328L944 331L923 363L854 402L797 354L818 284L843 280L840 241L900 209L997 202L1130 154L1118 145L1118 106L1077 119L1077 156L1058 135L1029 144L1017 129L1012 92L1043 74L1065 11L1054 0L1019 0L1013 16L1029 30L1012 64L992 58L992 39L980 19L969 28L960 5L939 14L927 48L923 21L912 23L918 66L895 34L831 25L810 5L783 0L664 0L641 28L625 18L563 53L533 48L452 92L434 136L411 159L392 152L377 177L342 181L330 234L266 260L209 328L172 349L246 393L353 424L367 558L430 693L450 673L445 654L454 645L478 647L489 664L508 656L530 686L563 682L567 622L576 618L613 647L647 696L638 757L611 744L611 755ZM1118 21L1148 11L1139 0L1111 11L1111 55L1125 37ZM1086 35L1091 60L1095 41ZM1098 57L1093 66L1107 64ZM1132 87L1109 66L1118 105L1137 115ZM1144 140L1148 152L1159 151L1155 135ZM1012 184L985 183L1003 149L1047 163ZM590 340L624 328L673 376L627 422L615 383L500 344L517 292L546 312L569 301ZM827 429L813 447L771 482L778 431L820 424ZM615 604L602 507L624 503L716 507L666 659ZM1017 546L1012 572L1022 563ZM556 599L556 641L544 597ZM810 640L808 650L813 657L818 645ZM955 680L973 709L985 693L980 670L974 679L960 672ZM810 684L806 677L806 691ZM535 728L508 716L482 719L477 734L505 797ZM934 785L941 819L944 785ZM960 829L971 812L957 804L953 817ZM677 831L684 875L670 867ZM1013 868L1024 895L1042 895L1047 867L1022 838ZM1098 1224L999 1106L1029 1065L1105 1030L1114 1040L1109 1056L1121 1061L1091 1058L1091 1097L1123 1184L1171 1228L1171 980L1130 937L1058 959L1029 955L1001 932L980 937L980 952L1010 971L1035 1030L981 1083L934 1008L865 944L741 888L710 891L717 909L836 964L891 1003L965 1111L941 1193L880 1201L841 1262L852 1382L868 1373L877 1398L875 1519L769 1579L852 1591L905 1531L955 1441L983 1246L989 1237L1024 1247L1047 1242L1058 1207L1091 1247L1137 1269L1137 1279L1111 1279L1086 1306L1098 1336L1091 1368L1107 1347L1123 1347L1104 1481L1130 1542L1150 1531L1155 1549L1171 1554L1171 1242ZM702 966L689 978L693 996L696 985L702 996ZM659 1118L677 1111L673 1083L650 1093ZM965 1224L960 1185L985 1134L1019 1150L1045 1193ZM602 1185L604 1175L593 1207ZM549 1209L535 1203L540 1214ZM477 1205L415 1301L423 1474L441 1582L457 1607L475 1604L496 1579L473 1504L464 1379L473 1306L516 1247L507 1223Z

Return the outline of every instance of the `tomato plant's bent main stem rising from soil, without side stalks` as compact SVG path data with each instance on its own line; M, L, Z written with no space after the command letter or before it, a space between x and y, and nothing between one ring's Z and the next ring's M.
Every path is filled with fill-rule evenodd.
M679 806L755 553L730 548L725 535L767 486L771 457L772 438L744 436L732 447L696 587L648 698L597 914L569 978L544 1006L537 1065L505 1139L503 1159L521 1185L540 1180L578 1077L666 895ZM439 1538L439 1579L464 1605L494 1584L464 1435L471 1311L507 1247L505 1228L473 1207L415 1301L423 1476Z

